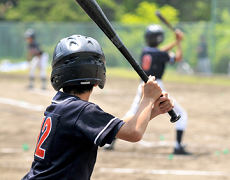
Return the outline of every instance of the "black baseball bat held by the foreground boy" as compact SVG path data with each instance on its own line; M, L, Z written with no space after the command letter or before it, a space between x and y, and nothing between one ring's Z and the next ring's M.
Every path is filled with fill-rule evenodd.
M95 0L76 0L81 8L88 14L88 16L98 25L98 27L105 33L105 35L110 39L110 41L117 47L117 49L123 54L123 56L132 65L133 69L141 77L141 79L146 83L148 81L148 76L144 70L135 61L133 56L130 54L120 37L117 35L116 31L112 27L111 23L105 16L104 12L101 10L100 6ZM177 115L173 110L168 112L171 116L170 121L176 122L180 119L180 115Z

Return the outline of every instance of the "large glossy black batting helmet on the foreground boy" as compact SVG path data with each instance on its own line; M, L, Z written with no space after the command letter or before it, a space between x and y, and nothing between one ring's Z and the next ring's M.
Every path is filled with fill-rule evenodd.
M105 64L103 50L95 39L81 35L63 38L53 53L51 84L56 91L80 84L98 84L102 89Z

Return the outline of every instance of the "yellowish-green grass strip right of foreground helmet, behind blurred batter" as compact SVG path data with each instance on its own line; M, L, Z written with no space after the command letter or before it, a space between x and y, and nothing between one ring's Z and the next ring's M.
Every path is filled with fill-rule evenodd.
M127 68L107 68L108 77L121 77L127 79L140 79L133 69ZM219 86L230 86L230 78L224 75L214 75L210 77L198 75L181 75L175 70L166 70L164 74L165 82L192 83L192 84L210 84Z

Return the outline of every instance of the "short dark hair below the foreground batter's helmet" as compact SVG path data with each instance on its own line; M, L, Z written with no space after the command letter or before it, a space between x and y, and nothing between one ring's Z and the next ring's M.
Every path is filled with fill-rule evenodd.
M85 92L90 92L93 90L94 84L84 84L84 85L75 85L75 86L65 86L63 87L63 92L70 94L83 94Z

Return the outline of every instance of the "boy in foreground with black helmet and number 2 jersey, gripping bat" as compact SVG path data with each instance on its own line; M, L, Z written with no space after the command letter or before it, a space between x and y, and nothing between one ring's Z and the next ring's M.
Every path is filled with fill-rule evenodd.
M89 180L98 146L115 137L139 141L152 118L173 108L168 94L150 77L142 84L143 97L134 116L121 120L104 112L89 98L93 88L105 85L105 63L100 45L91 37L73 35L57 44L51 84L58 92L44 113L34 161L23 180Z

